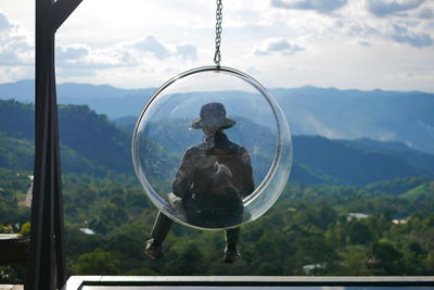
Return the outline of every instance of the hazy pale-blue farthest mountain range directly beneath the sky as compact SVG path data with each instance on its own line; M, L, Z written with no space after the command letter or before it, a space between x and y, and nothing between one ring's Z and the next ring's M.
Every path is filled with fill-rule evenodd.
M331 139L370 138L400 141L434 153L434 93L421 91L361 91L306 86L270 89L295 135L319 135ZM61 104L87 104L110 118L137 117L154 92L150 89L118 89L111 86L60 84ZM222 94L233 94L222 91ZM244 97L248 97L244 93ZM0 85L0 99L34 101L34 81ZM234 98L228 112L243 113ZM257 118L269 118L258 114Z

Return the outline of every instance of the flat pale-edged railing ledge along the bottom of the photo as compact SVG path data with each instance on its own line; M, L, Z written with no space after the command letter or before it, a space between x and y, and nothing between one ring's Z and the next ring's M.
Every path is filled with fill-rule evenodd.
M97 287L97 288L94 288ZM255 289L260 287L393 287L399 289L408 287L426 287L434 289L434 277L427 276L72 276L62 290L92 290L107 287L107 289L178 289L189 287L206 289L207 287L227 288L242 287ZM119 287L119 288L117 288ZM123 288L126 287L126 288ZM432 287L432 288L431 288ZM184 289L184 288L182 288ZM388 288L390 289L390 288Z

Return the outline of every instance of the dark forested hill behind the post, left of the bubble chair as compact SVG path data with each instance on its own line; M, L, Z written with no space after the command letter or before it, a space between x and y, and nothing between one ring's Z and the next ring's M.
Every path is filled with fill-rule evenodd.
M31 171L34 163L34 106L0 100L0 167ZM85 105L59 108L62 169L104 176L110 172L132 174L130 136L104 115ZM150 148L154 148L150 143ZM173 166L169 154L155 149L163 164Z

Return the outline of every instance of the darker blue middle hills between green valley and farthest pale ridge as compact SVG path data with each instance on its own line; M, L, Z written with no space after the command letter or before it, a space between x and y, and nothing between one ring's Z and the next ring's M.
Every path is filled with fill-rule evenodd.
M31 171L33 117L33 105L0 100L0 167ZM266 128L254 123L240 121L239 124L248 130L265 134ZM158 135L158 139L149 140L150 164L159 169L161 178L167 178L167 173L171 173L179 165L179 159L175 156L179 156L180 152L174 152L170 146L176 146L175 141L180 142L178 146L187 142L177 138L174 131L174 128L167 126L164 127L164 131L158 131L157 128L155 134ZM237 131L228 130L228 135L237 138ZM117 128L105 116L98 115L89 108L60 106L60 136L62 169L65 173L133 174L130 156L131 131ZM259 149L269 146L266 139L259 139ZM293 148L291 182L367 185L393 178L434 176L434 155L405 144L294 136ZM399 150L396 151L396 148ZM420 159L426 160L426 163L420 164ZM260 162L258 164L260 165Z

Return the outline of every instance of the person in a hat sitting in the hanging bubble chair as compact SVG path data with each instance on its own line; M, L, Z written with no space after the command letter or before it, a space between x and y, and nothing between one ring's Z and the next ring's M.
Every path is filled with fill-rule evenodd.
M229 228L226 230L226 263L241 257L237 249L240 227L234 226L243 220L243 198L255 189L247 151L231 142L224 133L233 125L235 122L226 116L224 104L212 102L201 108L200 117L193 119L191 126L202 129L205 140L187 150L173 182L174 192L167 196L175 209L183 211L189 224ZM163 241L173 223L158 213L152 238L146 241L146 256L164 256Z

